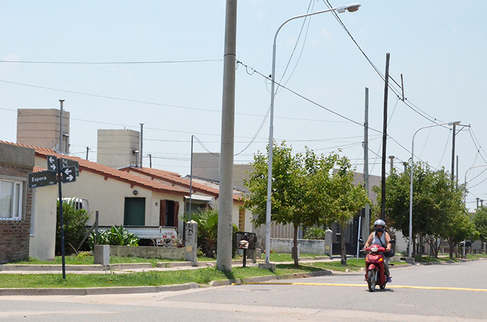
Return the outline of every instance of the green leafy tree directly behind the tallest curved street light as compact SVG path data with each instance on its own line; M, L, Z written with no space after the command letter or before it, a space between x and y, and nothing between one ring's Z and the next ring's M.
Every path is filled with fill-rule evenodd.
M284 225L293 224L295 266L299 264L297 229L303 225L330 225L337 219L336 216L341 209L347 209L345 203L340 204L336 200L341 194L333 192L336 183L334 186L332 174L334 165L342 168L346 160L348 161L336 153L326 157L324 154L317 155L308 148L305 154L293 155L292 148L286 146L285 142L280 146L274 146L271 220ZM245 186L249 188L245 208L251 209L256 215L253 222L257 226L266 222L268 164L266 156L260 152L255 154L251 163L254 171L249 179L244 181Z

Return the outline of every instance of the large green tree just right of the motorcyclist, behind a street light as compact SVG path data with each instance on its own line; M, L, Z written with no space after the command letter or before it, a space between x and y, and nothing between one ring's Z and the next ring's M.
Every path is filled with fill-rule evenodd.
M386 181L386 217L390 218L396 229L403 231L409 238L409 194L411 185L411 168L398 174L392 170ZM456 240L456 235L463 235L464 225L452 225L463 222L464 205L462 202L463 186L457 187L451 180L449 172L433 171L427 163L414 163L413 178L413 240L416 235L427 235L427 241L438 256L438 239ZM378 188L375 188L378 192ZM378 194L380 203L381 195ZM457 222L458 224L458 222ZM458 230L458 231L456 231ZM451 249L455 243L450 244ZM414 247L416 249L416 247Z

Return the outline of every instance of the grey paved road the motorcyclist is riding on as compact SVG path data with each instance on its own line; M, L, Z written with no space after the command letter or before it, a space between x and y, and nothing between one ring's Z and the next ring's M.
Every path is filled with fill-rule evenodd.
M374 293L360 273L156 294L1 297L0 321L487 321L486 272L487 261L394 268L394 283Z

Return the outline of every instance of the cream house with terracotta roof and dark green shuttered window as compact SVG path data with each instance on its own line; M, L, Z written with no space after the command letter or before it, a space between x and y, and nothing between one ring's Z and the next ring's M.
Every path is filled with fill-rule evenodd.
M189 179L181 178L175 172L152 168L128 167L122 171L79 157L58 154L48 148L25 147L35 150L34 171L47 168L49 155L79 163L80 175L76 182L63 183L63 198L87 198L93 211L91 223L94 211L99 211L100 226L168 226L177 227L179 235L182 235L183 222L179 218L188 208ZM197 180L193 182L194 205L218 205L218 188ZM32 189L32 194L34 210L30 226L30 255L51 260L54 258L56 235L57 185ZM251 214L240 209L241 205L240 196L234 194L233 222L240 230L251 231Z

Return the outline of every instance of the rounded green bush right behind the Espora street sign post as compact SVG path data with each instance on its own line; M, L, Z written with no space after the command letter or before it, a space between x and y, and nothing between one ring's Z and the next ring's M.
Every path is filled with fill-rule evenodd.
M76 247L87 233L90 214L86 209L76 209L74 201L63 201L63 226L65 232L65 249L67 253L76 251ZM56 253L61 253L61 224L59 200L56 220Z

